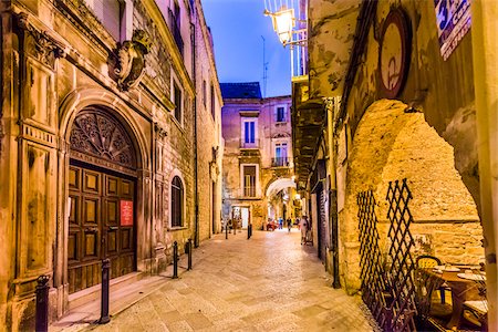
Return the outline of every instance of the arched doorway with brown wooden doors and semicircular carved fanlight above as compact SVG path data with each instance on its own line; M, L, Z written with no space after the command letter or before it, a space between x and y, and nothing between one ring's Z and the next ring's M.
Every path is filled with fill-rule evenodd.
M124 123L106 107L89 106L71 128L70 293L101 282L104 258L112 278L136 270L137 149Z

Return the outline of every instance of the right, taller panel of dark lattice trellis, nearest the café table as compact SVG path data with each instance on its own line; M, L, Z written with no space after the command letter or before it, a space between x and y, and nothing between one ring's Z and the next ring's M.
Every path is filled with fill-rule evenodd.
M387 281L392 302L387 308L386 328L391 331L415 331L415 283L413 274L415 264L411 249L415 245L409 225L413 221L408 203L412 199L406 178L402 183L390 181L386 200L388 203L387 218L391 227L387 236L391 240L388 258L391 268Z

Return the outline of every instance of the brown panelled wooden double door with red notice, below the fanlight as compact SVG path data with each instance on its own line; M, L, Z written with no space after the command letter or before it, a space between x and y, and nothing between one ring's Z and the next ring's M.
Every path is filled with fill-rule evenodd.
M135 180L71 163L69 187L69 292L101 283L104 258L111 278L136 270Z

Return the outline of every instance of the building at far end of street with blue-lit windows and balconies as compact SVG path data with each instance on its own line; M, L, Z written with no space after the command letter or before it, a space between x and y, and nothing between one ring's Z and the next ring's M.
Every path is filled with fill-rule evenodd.
M224 219L261 229L269 219L297 217L290 96L262 98L258 82L220 86Z

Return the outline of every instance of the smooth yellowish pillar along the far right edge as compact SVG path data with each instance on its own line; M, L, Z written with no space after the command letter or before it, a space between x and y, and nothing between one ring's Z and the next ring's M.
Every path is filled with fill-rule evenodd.
M471 3L474 85L480 179L480 219L484 229L489 331L498 326L497 236L498 236L498 2Z

